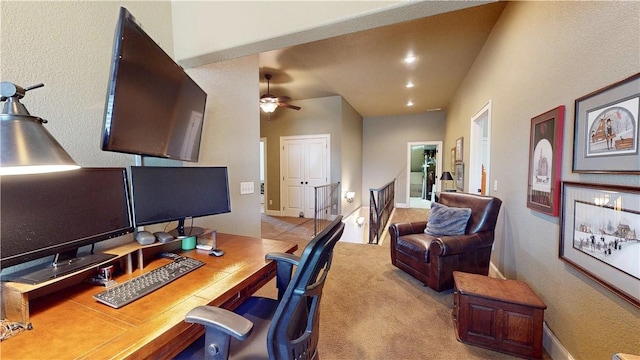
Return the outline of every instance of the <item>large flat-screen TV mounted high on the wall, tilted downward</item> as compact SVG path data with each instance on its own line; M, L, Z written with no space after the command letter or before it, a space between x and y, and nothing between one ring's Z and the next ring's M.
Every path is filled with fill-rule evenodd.
M102 150L198 161L207 94L120 9Z

